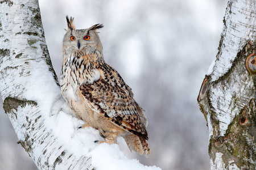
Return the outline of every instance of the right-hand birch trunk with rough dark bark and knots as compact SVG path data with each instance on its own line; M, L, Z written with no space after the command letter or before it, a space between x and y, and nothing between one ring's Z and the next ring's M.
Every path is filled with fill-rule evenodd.
M211 169L256 169L256 1L231 0L215 62L197 101Z

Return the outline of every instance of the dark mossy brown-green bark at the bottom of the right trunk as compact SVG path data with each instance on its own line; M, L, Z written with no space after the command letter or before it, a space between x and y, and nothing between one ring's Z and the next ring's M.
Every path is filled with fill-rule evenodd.
M253 169L255 167L255 111L255 100L251 99L248 107L245 106L234 117L223 137L213 135L210 139L210 157L215 159L215 154L221 152L225 168L230 162L234 162L240 169Z

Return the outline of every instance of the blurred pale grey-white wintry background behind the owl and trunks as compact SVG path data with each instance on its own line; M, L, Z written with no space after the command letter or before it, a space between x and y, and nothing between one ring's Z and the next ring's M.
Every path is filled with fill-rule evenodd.
M77 29L100 30L105 61L133 89L147 111L151 155L130 158L162 169L209 169L208 129L197 95L217 54L227 0L40 1L43 27L56 74L60 75L65 16ZM35 68L36 69L36 68ZM0 169L37 169L2 109ZM65 132L63 132L65 133Z

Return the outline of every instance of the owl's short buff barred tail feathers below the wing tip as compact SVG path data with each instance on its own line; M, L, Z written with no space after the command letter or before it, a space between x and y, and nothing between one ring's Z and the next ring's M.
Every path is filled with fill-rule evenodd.
M136 151L146 157L150 154L150 148L148 147L146 139L140 138L134 134L129 134L125 136L125 141L130 151Z

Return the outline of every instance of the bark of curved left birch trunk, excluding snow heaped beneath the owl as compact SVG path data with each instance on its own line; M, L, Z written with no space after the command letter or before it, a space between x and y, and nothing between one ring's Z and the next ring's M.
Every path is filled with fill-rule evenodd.
M0 8L1 95L18 143L39 169L93 169L89 157L77 158L64 150L46 125L47 117L55 114L55 100L65 102L49 58L38 1L0 1Z

